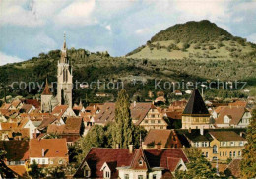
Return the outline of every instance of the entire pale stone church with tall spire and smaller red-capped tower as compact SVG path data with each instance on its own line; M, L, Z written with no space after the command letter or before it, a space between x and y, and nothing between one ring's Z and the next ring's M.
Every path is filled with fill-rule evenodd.
M57 95L54 96L46 80L45 88L41 93L41 111L43 112L51 112L57 105L68 105L72 108L73 74L68 59L65 35L61 57L58 61L57 81Z

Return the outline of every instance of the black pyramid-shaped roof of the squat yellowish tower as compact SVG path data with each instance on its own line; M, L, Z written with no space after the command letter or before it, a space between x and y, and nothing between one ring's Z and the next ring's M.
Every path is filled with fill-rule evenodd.
M200 95L198 89L193 90L183 112L183 115L210 116L209 111L207 110L205 102L202 96Z

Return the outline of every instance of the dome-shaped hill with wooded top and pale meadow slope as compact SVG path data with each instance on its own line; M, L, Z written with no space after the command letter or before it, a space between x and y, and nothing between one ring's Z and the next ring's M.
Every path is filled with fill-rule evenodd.
M126 57L147 59L220 59L238 58L256 50L256 45L207 20L187 22L162 30L147 44Z

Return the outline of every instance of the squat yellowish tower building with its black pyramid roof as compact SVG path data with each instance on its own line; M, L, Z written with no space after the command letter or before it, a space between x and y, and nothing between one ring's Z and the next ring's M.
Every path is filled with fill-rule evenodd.
M182 114L183 129L210 128L210 113L198 89L194 89Z

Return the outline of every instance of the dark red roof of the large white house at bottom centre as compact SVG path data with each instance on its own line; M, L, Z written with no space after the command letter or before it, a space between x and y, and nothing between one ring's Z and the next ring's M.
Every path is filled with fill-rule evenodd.
M148 164L138 166L137 161L141 158L145 158L144 161ZM105 162L115 162L116 167L129 167L135 170L139 168L147 169L149 167L163 167L165 170L168 170L170 167L173 168L168 164L168 161L170 163L172 162L171 158L181 158L184 163L188 162L187 157L181 149L135 149L135 151L130 153L129 149L92 148L82 161L74 177L83 177L86 163L91 169L92 178L103 178L103 172L100 169ZM117 178L118 171L114 170L112 172L111 177Z

